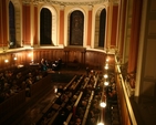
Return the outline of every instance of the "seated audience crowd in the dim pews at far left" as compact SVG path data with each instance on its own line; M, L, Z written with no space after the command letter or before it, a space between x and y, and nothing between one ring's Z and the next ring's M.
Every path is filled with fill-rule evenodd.
M0 73L0 103L19 93L21 90L27 91L30 96L30 86L44 77L45 72L38 69L33 70L28 66L14 67Z

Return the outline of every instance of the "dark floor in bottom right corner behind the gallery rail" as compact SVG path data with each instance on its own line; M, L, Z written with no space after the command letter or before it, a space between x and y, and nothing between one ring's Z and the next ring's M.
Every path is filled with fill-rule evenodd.
M142 96L131 97L137 125L156 125L156 98Z

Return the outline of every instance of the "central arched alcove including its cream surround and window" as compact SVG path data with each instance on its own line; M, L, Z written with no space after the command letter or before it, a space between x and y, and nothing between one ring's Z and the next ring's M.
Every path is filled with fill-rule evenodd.
M73 8L66 14L66 41L65 45L77 45L84 46L86 44L85 41L85 12L81 8ZM74 29L74 30L73 30ZM73 32L75 31L75 32ZM81 32L81 33L79 33ZM75 34L74 34L75 33ZM73 35L74 34L74 35ZM80 41L77 41L77 40ZM75 42L71 42L71 40L76 40Z

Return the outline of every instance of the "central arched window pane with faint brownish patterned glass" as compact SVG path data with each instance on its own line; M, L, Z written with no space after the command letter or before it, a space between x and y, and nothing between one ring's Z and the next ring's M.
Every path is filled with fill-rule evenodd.
M75 10L70 17L70 45L83 45L84 15Z

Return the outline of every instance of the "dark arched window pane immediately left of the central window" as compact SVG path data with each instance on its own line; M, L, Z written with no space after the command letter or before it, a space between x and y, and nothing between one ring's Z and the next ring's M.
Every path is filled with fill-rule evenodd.
M43 8L40 13L40 44L52 44L52 13Z

